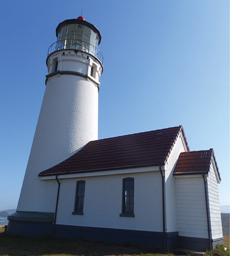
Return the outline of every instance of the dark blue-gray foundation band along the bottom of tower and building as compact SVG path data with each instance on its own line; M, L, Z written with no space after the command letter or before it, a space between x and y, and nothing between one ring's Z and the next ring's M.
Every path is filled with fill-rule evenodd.
M164 247L164 233L140 230L98 228L70 225L55 225L51 223L9 221L7 233L26 237L56 236L68 239L88 239L118 244L136 244L144 246ZM178 232L165 234L166 249L185 248L205 251L209 248L208 239L188 238L178 236ZM222 244L223 238L212 241L213 248Z

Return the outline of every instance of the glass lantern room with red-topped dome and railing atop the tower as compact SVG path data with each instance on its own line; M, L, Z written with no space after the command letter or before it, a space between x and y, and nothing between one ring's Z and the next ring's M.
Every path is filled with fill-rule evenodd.
M73 49L89 53L103 63L103 56L98 49L101 42L100 31L80 16L77 19L66 19L56 28L57 41L50 46L48 55L52 52Z

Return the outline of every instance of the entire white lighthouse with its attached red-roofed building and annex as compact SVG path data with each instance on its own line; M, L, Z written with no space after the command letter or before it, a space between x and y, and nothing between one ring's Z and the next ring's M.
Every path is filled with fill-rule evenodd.
M222 243L213 150L183 127L97 139L99 30L65 20L47 58L44 99L8 233L204 250Z

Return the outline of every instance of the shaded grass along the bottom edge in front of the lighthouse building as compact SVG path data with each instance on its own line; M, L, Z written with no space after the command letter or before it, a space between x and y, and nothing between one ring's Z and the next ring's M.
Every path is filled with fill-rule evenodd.
M160 248L68 240L54 237L25 238L4 233L0 226L0 255L2 256L169 256ZM224 245L207 251L207 256L229 255L229 237Z

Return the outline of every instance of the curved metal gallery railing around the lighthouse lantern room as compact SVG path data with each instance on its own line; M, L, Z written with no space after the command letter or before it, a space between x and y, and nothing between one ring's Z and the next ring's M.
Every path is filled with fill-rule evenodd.
M79 50L82 52L86 52L89 53L93 56L95 56L96 58L98 58L100 60L100 62L103 64L103 55L100 52L100 50L89 44L88 42L84 42L81 40L59 40L54 42L54 44L52 44L48 50L48 56L55 51L59 51L59 50L64 50L64 49L72 49L72 50Z

